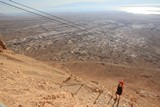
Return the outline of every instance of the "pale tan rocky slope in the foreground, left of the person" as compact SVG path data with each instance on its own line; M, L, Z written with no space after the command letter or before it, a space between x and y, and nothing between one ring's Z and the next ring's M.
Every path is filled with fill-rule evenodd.
M103 107L111 96L96 101L100 86L9 50L0 53L0 81L1 107Z

